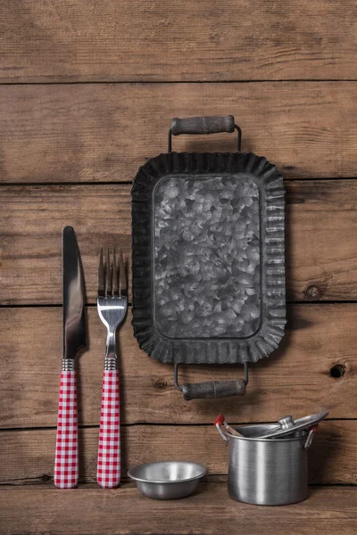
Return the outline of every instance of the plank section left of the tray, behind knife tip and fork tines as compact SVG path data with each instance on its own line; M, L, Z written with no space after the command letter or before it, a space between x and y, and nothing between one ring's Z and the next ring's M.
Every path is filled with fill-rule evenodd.
M4 186L0 214L2 295L9 304L62 301L62 227L77 231L87 298L95 302L101 247L129 261L130 186ZM16 286L16 288L15 288ZM17 297L16 297L17 295Z

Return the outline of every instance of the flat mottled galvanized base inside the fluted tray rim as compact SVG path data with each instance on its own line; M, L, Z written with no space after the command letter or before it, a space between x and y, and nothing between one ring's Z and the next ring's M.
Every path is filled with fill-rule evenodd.
M164 177L154 191L157 327L243 338L262 317L260 191L252 177Z

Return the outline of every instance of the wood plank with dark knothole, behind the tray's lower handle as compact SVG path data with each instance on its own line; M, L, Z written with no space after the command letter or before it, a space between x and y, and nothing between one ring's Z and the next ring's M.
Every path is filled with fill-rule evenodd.
M89 350L79 358L79 424L99 422L105 329L96 309L88 314ZM244 398L184 401L170 365L138 349L130 314L120 329L123 424L212 424L276 421L327 408L330 418L356 418L357 305L288 308L286 336L270 358L252 365ZM45 427L57 422L62 359L62 309L0 309L0 427ZM332 366L345 366L333 378ZM179 382L241 377L242 366L186 366Z

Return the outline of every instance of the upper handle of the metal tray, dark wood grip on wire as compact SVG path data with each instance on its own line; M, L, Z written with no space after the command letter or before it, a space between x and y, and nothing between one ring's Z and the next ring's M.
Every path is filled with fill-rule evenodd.
M172 140L171 136L180 136L181 134L219 134L220 132L232 132L237 130L238 133L238 152L241 150L242 144L242 130L235 123L233 115L220 116L201 116L201 117L187 117L179 119L174 117L171 119L171 128L169 130L169 144L168 152L171 152Z

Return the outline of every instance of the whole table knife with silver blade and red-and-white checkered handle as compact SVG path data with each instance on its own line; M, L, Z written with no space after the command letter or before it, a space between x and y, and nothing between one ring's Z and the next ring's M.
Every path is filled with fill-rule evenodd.
M71 226L62 234L63 358L58 404L54 484L72 489L79 481L77 376L75 357L86 347L85 292L79 246Z

